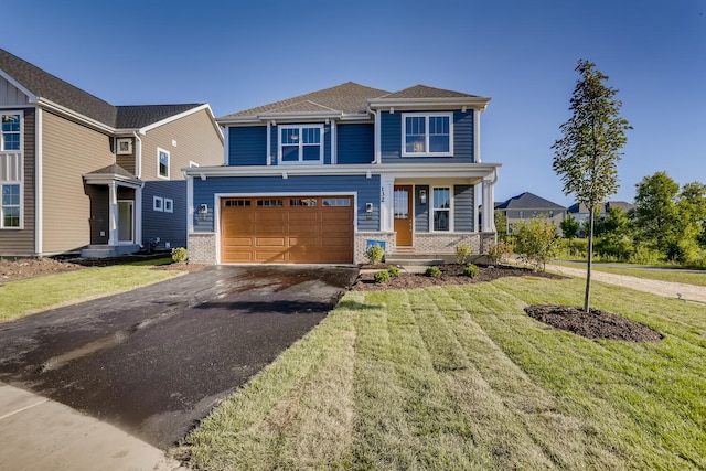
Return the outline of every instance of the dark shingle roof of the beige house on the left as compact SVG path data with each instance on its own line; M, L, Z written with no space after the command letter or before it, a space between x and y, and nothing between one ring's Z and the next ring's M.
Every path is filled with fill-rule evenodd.
M2 49L0 49L0 69L38 98L47 99L111 128L141 128L201 106L199 104L113 106Z

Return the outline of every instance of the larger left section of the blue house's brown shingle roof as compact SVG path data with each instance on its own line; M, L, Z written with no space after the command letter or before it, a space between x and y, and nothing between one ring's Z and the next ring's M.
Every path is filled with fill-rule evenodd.
M299 95L243 111L225 115L222 118L257 116L268 113L311 113L341 111L346 115L363 114L367 110L367 100L386 95L389 92L366 87L354 82Z

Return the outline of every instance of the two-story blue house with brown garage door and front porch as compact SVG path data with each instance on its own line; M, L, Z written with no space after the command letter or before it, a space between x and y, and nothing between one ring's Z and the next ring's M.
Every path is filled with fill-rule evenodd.
M352 82L223 116L225 167L189 169L190 260L361 263L386 254L483 253L480 195L492 207L498 163L480 152L490 101L417 85Z

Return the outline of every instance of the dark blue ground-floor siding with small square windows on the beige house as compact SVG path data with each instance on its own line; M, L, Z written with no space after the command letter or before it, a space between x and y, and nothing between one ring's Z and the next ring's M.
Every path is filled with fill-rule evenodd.
M174 212L154 211L153 196L173 201ZM208 205L211 206L211 204ZM142 245L159 237L158 248L186 246L186 181L146 182L142 189Z

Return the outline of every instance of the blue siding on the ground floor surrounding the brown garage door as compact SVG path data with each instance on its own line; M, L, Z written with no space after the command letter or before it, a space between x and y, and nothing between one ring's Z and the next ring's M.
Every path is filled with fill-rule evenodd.
M303 175L289 176L210 176L206 180L194 179L194 210L201 204L208 205L208 213L194 215L195 232L213 232L214 193L232 195L249 193L357 193L359 231L379 229L379 176L373 175ZM365 213L365 203L373 203L371 218ZM195 211L197 213L197 211Z

